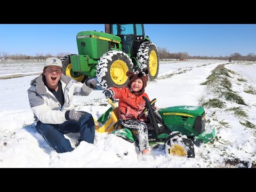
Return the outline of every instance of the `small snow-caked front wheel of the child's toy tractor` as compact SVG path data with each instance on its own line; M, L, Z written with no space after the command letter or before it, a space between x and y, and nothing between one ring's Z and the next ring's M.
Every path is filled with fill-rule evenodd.
M195 157L194 144L186 135L181 135L180 132L175 131L169 135L165 142L166 154L184 156L188 158Z

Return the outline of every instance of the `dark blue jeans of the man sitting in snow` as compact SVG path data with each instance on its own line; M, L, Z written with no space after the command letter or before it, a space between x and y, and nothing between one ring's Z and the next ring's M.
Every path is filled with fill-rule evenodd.
M74 150L74 148L71 147L70 141L64 137L64 134L67 133L79 132L81 134L81 138L78 139L79 142L94 142L94 120L92 115L89 113L82 116L78 122L66 121L62 124L44 124L42 122L38 122L36 129L51 148L57 151L57 153L65 153Z

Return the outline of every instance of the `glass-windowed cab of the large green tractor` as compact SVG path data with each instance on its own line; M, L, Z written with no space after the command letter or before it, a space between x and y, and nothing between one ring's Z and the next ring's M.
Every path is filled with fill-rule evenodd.
M106 33L121 37L122 50L131 56L135 56L140 44L145 40L143 24L106 24ZM148 38L148 37L147 37Z

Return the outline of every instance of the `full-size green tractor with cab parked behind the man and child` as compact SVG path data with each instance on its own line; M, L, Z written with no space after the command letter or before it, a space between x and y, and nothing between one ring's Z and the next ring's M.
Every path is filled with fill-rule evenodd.
M78 54L61 58L63 74L78 82L97 77L100 86L124 86L127 71L149 69L149 79L157 78L159 54L145 36L143 24L105 24L105 33L81 31L76 36Z

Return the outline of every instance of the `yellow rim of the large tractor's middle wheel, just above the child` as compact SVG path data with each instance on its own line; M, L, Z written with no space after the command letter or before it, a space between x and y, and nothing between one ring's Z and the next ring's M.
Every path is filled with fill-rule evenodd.
M116 60L110 67L110 77L112 81L117 85L123 85L127 81L128 77L126 72L128 71L126 63L122 60Z

